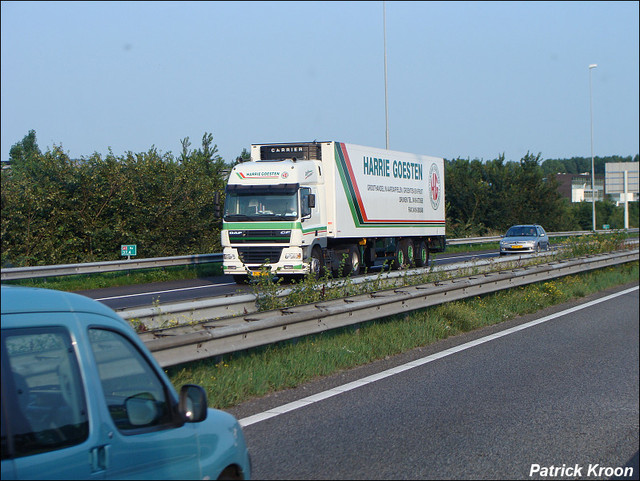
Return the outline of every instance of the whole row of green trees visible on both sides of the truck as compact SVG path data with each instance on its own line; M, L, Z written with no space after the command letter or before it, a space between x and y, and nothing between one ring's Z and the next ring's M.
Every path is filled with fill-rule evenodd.
M177 156L151 147L71 159L61 146L42 152L29 131L2 170L2 267L117 260L123 244L136 244L140 258L220 252L224 188L234 162L222 159L210 133L198 148L188 137L181 145ZM519 162L446 160L447 236L494 234L523 222L548 231L590 229L591 204L561 198L547 162L529 153ZM547 167L557 171L560 163ZM570 165L582 169L575 159L565 168ZM598 202L602 223L622 227L621 208Z

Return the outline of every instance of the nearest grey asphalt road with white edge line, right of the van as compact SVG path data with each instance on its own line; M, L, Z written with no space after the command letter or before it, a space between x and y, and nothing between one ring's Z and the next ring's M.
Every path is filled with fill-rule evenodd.
M616 291L237 406L253 477L638 479L637 284L566 311Z

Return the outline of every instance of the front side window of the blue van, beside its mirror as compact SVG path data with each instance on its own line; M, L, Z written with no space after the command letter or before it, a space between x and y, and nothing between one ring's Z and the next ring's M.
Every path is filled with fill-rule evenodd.
M121 334L90 329L109 414L124 434L168 427L173 421L164 383L138 349Z

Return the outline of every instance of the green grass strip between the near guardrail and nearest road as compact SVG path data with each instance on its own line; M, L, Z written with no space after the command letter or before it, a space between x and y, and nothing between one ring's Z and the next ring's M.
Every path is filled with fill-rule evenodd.
M477 296L402 316L167 369L176 386L200 384L209 405L253 397L367 364L518 315L638 281L638 262Z

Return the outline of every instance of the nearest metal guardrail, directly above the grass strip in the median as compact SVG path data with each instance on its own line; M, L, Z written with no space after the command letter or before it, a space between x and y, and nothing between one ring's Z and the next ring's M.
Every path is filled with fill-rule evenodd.
M489 294L638 260L638 250L591 255L333 301L143 333L161 366L205 359L278 341L317 334L454 300Z

